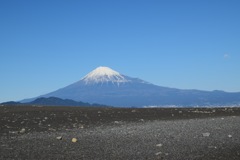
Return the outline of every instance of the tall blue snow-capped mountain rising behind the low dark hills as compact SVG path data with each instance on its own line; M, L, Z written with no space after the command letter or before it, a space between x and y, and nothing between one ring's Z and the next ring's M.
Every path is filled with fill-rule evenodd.
M240 92L228 93L162 87L122 75L108 67L98 67L80 81L39 97L58 97L116 107L240 104Z

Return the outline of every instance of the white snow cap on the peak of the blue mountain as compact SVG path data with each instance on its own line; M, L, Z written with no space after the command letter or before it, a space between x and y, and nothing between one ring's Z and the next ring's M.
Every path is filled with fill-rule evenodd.
M110 83L124 83L128 82L126 78L124 78L123 75L120 73L112 70L109 67L98 67L89 74L87 74L82 79L86 84L92 84L92 83L104 83L104 82L110 82Z

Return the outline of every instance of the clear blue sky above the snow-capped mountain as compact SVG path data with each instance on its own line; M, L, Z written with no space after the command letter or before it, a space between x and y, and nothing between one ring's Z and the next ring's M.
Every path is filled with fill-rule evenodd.
M151 83L240 91L239 0L1 0L0 102L98 66Z

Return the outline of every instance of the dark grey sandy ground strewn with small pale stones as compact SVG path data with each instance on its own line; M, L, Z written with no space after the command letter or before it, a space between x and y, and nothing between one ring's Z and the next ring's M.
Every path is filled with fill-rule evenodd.
M239 108L0 107L0 116L4 160L240 159Z

